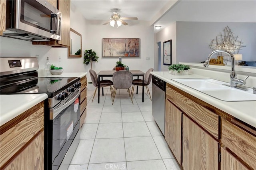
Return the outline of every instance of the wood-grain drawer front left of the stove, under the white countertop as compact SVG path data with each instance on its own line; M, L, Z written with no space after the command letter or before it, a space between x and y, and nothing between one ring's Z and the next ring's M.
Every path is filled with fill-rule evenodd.
M38 103L1 126L1 167L44 128L44 104Z

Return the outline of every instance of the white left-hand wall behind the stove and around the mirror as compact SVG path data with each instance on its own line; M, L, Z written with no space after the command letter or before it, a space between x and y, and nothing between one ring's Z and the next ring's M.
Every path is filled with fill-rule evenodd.
M82 50L86 42L86 20L72 5L70 10L70 27L82 34ZM50 47L47 45L32 45L32 42L16 40L12 38L0 37L1 57L35 57L39 55L39 69L44 69L46 58L50 63L58 67L63 67L64 72L85 72L82 58L68 58L68 48ZM58 61L58 57L61 61Z

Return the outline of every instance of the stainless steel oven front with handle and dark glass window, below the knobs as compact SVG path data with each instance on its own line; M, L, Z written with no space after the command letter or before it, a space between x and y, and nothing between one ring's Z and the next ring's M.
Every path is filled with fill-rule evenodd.
M51 161L48 160L48 163L52 165L48 167L52 166L52 170L68 168L80 140L80 89L66 100L61 106L50 109L50 119L53 119L50 120L52 134L49 134L48 152Z

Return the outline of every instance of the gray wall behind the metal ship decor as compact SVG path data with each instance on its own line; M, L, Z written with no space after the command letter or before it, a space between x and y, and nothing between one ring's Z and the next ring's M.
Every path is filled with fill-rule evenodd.
M177 22L176 25L177 63L205 61L212 52L208 45L226 26L246 45L239 51L243 61L256 61L256 23Z

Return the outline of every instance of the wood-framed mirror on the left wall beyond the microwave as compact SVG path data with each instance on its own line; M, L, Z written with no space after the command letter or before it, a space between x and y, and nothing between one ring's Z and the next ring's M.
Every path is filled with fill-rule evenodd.
M70 28L69 57L82 57L82 35Z

